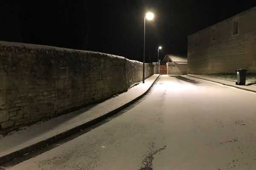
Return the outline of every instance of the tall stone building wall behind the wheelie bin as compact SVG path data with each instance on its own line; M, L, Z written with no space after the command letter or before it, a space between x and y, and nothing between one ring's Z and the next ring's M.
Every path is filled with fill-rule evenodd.
M238 34L233 34L235 21ZM256 7L188 36L189 74L232 73L238 68L256 72Z

